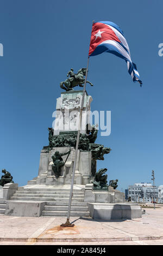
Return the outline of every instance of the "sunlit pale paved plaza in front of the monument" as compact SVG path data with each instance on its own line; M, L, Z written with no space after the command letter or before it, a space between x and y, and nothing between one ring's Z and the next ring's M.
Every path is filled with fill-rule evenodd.
M163 207L146 208L142 218L96 221L71 217L0 216L0 245L163 245Z

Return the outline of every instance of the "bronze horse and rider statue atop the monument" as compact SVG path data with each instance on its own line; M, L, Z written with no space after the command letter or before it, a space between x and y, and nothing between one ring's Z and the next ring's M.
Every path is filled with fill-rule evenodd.
M86 68L80 68L77 74L74 74L71 72L70 78L67 78L64 82L60 83L60 87L66 91L71 91L73 90L73 87L75 86L80 86L83 87L82 84L84 84L85 78L84 76L86 75ZM89 81L88 82L91 86L92 83Z

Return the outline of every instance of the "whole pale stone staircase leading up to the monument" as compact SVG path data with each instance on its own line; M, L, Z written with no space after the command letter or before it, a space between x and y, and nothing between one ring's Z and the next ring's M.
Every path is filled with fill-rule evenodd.
M26 186L25 186L26 187ZM19 187L10 200L44 201L46 205L42 216L67 216L70 186L29 186ZM90 216L87 203L84 202L84 186L73 189L71 216Z

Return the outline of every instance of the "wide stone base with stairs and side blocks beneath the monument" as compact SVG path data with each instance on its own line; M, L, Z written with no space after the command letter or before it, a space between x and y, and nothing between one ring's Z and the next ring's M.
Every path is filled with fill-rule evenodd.
M19 187L11 184L11 192L5 193L7 200L4 214L19 217L67 216L70 199L70 184L54 186L46 184L28 184ZM9 190L6 184L3 190ZM118 196L117 196L118 194ZM123 193L122 193L123 194ZM112 187L108 191L92 190L92 184L74 184L70 216L92 217L93 219L132 219L141 218L142 210L138 204L124 203L121 192ZM120 197L121 196L121 197ZM120 200L117 203L117 200ZM2 203L1 203L2 204ZM2 209L1 209L2 210Z

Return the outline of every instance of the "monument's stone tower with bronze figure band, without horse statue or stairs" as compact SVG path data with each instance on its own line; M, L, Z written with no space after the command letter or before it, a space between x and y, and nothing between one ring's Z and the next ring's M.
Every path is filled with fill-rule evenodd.
M82 102L83 91L61 92L57 99L56 118L54 129L48 128L49 145L43 147L40 154L39 175L36 184L60 186L71 184L74 152L77 140L79 110ZM110 152L110 148L96 144L97 129L95 126L87 130L91 110L92 97L85 93L84 110L82 116L82 130L79 139L77 166L74 177L74 184L90 183L96 174L97 159L103 160L104 154ZM66 159L66 152L71 151ZM60 175L54 173L53 156L56 152L62 156Z

